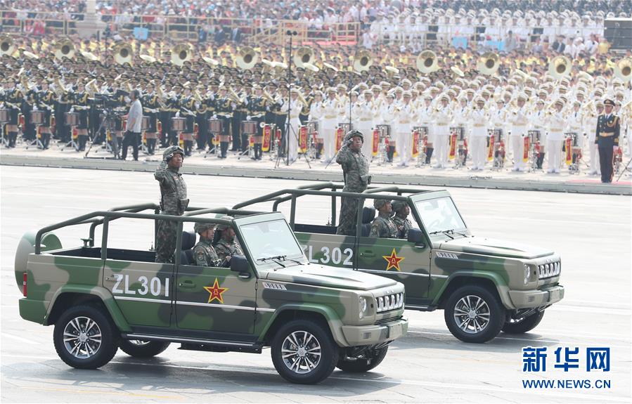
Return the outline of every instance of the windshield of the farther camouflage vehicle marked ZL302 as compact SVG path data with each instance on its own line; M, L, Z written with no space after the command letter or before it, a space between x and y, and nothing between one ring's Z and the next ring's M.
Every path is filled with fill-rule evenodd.
M420 200L415 202L415 208L423 221L423 226L431 235L467 229L451 197Z

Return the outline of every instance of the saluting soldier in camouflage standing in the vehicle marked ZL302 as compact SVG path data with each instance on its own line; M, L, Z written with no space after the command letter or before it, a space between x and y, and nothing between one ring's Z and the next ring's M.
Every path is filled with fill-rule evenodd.
M351 132L345 137L345 142L338 155L336 162L342 166L344 175L344 192L363 193L370 183L368 175L368 160L362 152L356 152L349 148L349 140L354 133ZM356 235L356 218L358 216L358 200L355 198L342 198L340 203L340 224L336 234Z

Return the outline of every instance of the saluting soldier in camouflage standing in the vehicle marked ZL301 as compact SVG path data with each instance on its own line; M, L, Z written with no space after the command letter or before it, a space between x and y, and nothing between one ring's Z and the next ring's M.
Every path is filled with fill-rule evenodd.
M186 183L179 173L184 160L184 150L178 146L162 153L162 162L154 173L160 183L160 214L182 216L188 206ZM173 263L176 251L178 222L159 220L156 233L156 262Z

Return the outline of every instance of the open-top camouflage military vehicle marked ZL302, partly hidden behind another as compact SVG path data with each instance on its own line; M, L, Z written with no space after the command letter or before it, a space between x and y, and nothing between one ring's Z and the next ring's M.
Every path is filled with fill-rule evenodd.
M447 191L393 186L351 194L341 189L342 185L335 183L305 185L264 195L233 209L273 202L276 210L290 202L290 226L311 263L402 282L406 308L446 309L446 325L463 341L489 341L501 330L527 332L539 323L546 308L564 297L558 254L472 235ZM330 216L321 222L327 225L297 219L304 195L313 199L320 196L323 204L331 204ZM336 203L342 196L356 197L359 206L364 206L358 211L355 236L336 235L336 227L329 223L336 223ZM368 237L375 199L406 202L415 226L408 240Z

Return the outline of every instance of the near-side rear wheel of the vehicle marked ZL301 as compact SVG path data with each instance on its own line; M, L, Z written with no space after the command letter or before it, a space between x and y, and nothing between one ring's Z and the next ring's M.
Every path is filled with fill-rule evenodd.
M76 306L55 323L53 343L67 365L77 369L96 369L114 358L119 335L103 309Z

